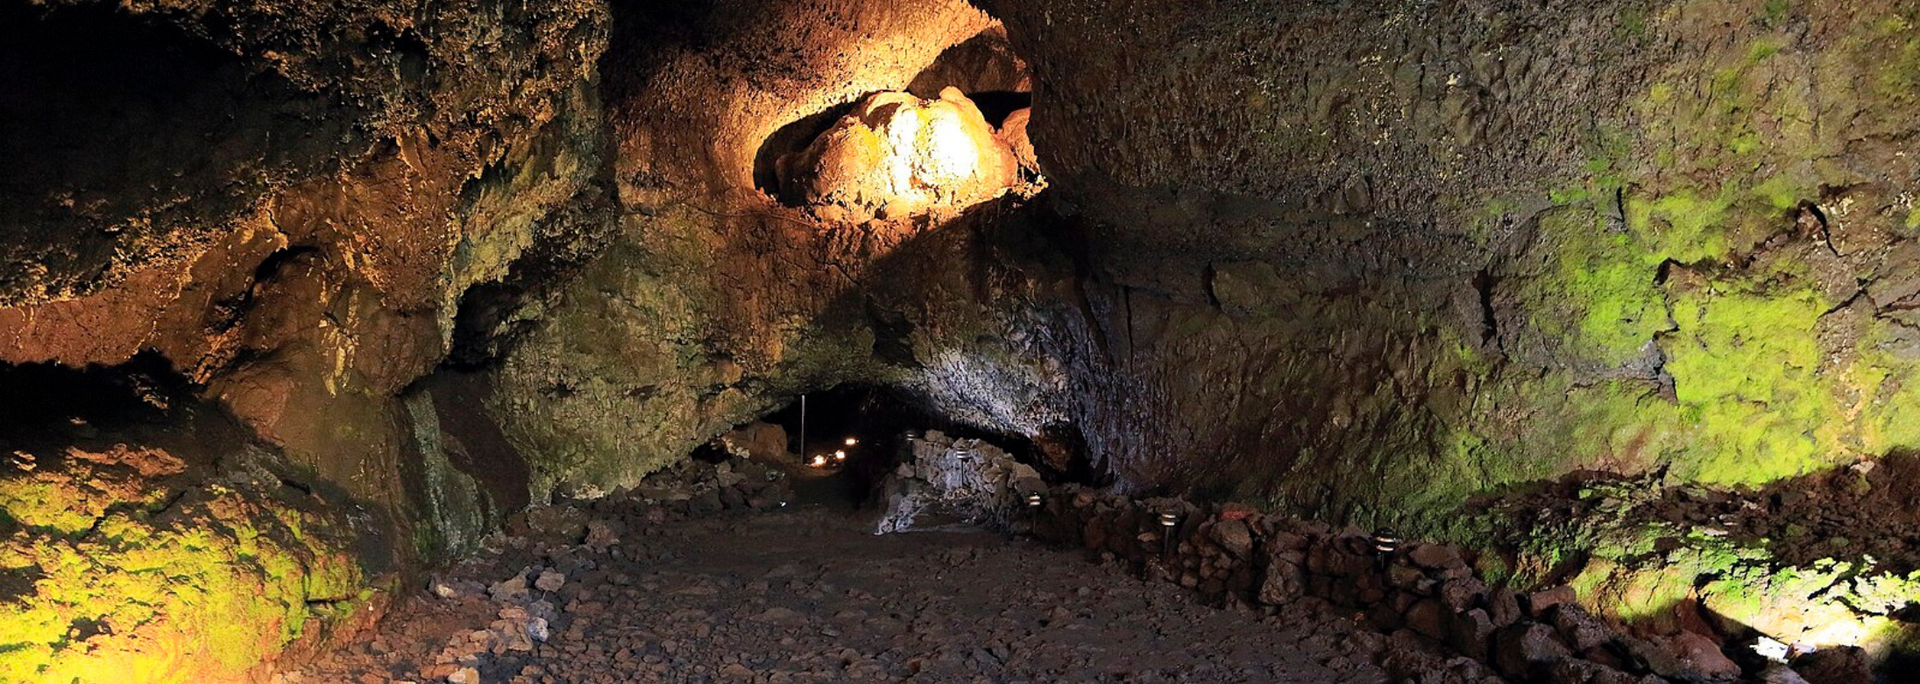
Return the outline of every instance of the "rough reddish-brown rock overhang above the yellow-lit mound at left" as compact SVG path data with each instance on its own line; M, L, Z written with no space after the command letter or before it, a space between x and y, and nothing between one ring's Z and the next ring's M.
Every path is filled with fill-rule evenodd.
M106 63L61 65L58 50L10 42L10 73L42 60L52 71L6 88L8 111L69 127L77 121L42 108L90 104L98 129L146 127L142 144L165 152L106 138L88 138L86 154L10 150L10 173L21 177L10 179L8 200L23 208L0 219L10 231L0 242L15 250L6 273L38 275L0 298L12 304L0 307L0 361L113 365L154 350L296 461L399 503L405 434L394 394L447 355L468 286L566 254L564 215L545 219L563 202L593 202L591 67L605 6L8 12L21 13L8 31L40 40L100 27L129 35L108 40L119 61ZM154 98L60 71L177 54L207 65L156 69L232 73L221 88L261 102L148 113ZM276 108L313 110L301 113L311 123ZM209 142L202 127L252 142ZM33 133L12 129L8 144L63 140ZM33 159L71 169L44 173ZM121 173L115 159L156 169ZM15 232L63 238L42 246Z

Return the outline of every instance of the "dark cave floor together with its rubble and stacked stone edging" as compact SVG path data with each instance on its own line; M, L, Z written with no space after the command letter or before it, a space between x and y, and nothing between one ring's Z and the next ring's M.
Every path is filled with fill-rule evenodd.
M1743 671L1703 634L1628 634L1571 588L1488 586L1448 546L1046 488L981 442L908 444L881 530L945 507L1025 534L874 534L872 513L783 505L778 469L687 461L526 511L276 682L1870 682L1837 649Z

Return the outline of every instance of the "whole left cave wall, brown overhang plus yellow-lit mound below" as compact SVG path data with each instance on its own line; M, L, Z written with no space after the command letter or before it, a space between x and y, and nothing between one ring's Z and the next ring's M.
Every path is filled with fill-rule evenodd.
M605 4L0 12L6 392L175 386L6 411L0 678L238 680L526 503L482 473L484 386L419 380L511 323L468 290L538 298L607 232Z

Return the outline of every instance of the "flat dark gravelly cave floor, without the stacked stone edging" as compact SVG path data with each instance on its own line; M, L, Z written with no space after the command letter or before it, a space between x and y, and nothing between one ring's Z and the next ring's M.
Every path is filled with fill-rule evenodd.
M396 601L374 630L278 680L1386 680L1357 655L1371 634L1352 617L1215 609L995 532L874 536L826 505L620 525L630 532L597 548L532 534L490 544L436 592ZM501 584L541 584L543 571L557 573L549 588L564 584L524 596ZM553 615L545 642L515 638L528 615Z

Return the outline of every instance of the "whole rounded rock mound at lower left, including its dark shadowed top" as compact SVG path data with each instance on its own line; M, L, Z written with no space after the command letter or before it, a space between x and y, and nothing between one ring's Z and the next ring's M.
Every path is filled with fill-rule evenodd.
M0 369L0 680L238 680L378 617L390 521L154 377Z

